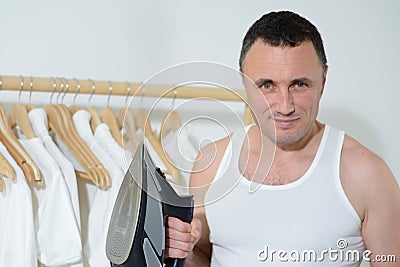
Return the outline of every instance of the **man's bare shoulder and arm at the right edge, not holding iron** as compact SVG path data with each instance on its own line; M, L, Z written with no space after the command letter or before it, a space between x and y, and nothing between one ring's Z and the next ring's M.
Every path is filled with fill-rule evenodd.
M346 136L340 175L361 218L371 266L400 266L400 189L393 174L380 157ZM395 255L396 262L377 261L381 255Z

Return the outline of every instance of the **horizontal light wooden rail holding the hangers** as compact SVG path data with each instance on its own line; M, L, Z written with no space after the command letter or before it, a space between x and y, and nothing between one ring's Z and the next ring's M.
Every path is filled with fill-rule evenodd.
M2 86L0 90L21 91L21 76L1 76ZM31 80L32 79L32 80ZM111 95L137 96L137 97L166 97L166 98L212 98L221 101L243 101L245 99L244 90L221 89L211 87L178 86L176 90L171 85L145 84L144 89L141 83L128 82L109 82L77 80L64 78L41 78L23 77L23 91L29 92L60 92L61 83L68 84L68 93L77 93L78 84L80 94L110 94L110 84L112 85ZM63 81L63 82L62 82ZM56 83L54 90L54 83ZM130 93L128 90L130 87ZM32 87L32 89L31 89ZM175 92L174 92L175 91ZM65 92L65 89L64 89Z

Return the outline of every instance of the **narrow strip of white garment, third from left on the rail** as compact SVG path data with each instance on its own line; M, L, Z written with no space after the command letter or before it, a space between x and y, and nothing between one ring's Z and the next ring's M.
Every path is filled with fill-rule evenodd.
M72 204L74 215L75 215L75 227L76 231L81 232L81 218L79 211L79 197L78 197L78 186L76 182L76 175L74 171L74 167L72 163L69 162L66 157L61 153L60 149L56 146L53 139L49 135L48 130L48 121L46 111L42 108L36 108L29 112L29 119L35 132L36 136L39 137L46 150L49 154L55 159L58 167L61 169L63 174L63 178L67 185L69 199ZM72 227L72 226L71 226ZM79 236L79 243L81 242L81 238ZM81 248L82 250L82 248ZM82 266L82 257L78 260L76 264L70 265L71 267L79 267ZM63 266L67 267L67 266Z

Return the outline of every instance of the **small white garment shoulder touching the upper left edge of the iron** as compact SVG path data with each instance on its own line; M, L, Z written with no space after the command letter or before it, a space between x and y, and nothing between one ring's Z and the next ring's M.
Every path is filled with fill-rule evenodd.
M123 173L129 168L132 161L132 155L129 151L124 150L119 146L117 141L111 135L110 128L105 123L97 125L94 132L96 141L103 147L114 162L119 166Z

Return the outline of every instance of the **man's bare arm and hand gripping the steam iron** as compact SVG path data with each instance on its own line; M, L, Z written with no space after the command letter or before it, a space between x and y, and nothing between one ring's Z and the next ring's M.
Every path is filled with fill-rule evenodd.
M168 221L166 255L175 255L178 258L187 256L185 266L210 266L212 246L204 196L215 177L228 142L229 137L211 143L205 146L196 158L190 177L190 193L195 200L193 222L186 224L175 218ZM191 239L188 239L188 234L192 236Z

